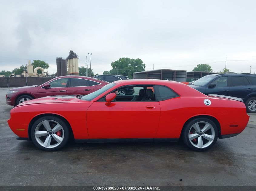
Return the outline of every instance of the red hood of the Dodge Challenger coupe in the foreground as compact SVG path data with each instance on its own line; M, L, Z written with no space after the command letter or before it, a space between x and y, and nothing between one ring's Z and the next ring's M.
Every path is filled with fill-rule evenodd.
M34 100L25 101L23 103L18 104L16 107L23 105L31 105L31 104L40 104L40 103L64 103L64 102L79 102L81 101L75 95L70 96L49 96L49 97L41 97Z

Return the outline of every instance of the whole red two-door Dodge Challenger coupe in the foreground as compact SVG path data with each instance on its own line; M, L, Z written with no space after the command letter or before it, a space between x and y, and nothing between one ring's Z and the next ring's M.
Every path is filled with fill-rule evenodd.
M118 95L132 87L134 95ZM166 80L120 80L82 96L30 100L11 110L8 124L19 140L42 150L76 142L172 142L182 138L195 150L211 148L217 138L233 137L249 116L243 100L204 95ZM132 123L125 123L132 121ZM120 125L122 124L122 125Z

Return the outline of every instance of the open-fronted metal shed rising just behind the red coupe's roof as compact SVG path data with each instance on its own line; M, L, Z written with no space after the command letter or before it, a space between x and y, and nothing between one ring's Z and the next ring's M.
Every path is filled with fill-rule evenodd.
M159 69L144 72L134 72L133 79L159 79L173 80L178 82L186 81L186 70Z

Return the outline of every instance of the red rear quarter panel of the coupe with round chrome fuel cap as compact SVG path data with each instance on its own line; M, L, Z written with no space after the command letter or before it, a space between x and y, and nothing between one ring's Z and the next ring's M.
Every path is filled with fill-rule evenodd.
M211 100L211 105L205 105L204 99ZM195 116L207 115L216 118L221 126L221 135L242 132L249 119L244 103L235 100L177 97L159 103L161 116L156 138L179 138L184 124Z

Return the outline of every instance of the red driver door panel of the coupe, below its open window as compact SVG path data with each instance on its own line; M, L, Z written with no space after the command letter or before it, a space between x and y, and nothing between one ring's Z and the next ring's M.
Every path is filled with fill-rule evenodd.
M155 138L161 112L158 101L105 103L96 101L87 110L90 139Z

